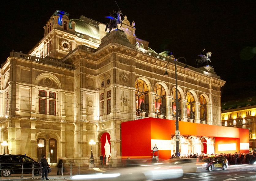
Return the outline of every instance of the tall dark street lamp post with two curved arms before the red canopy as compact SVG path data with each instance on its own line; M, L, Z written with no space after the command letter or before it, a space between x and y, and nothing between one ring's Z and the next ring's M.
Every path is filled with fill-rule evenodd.
M169 58L169 56L167 56ZM185 66L184 66L184 70L188 70L189 69L189 66L187 65L187 60L186 58L184 57L180 57L180 58L183 58L185 59ZM176 131L175 131L175 134L176 134L176 156L179 157L180 156L180 153L179 153L179 120L178 120L178 89L177 89L177 62L178 60L180 59L174 59L174 63L175 63L175 102L176 102ZM170 63L170 61L166 64L166 67L165 67L165 73L164 73L164 76L165 77L168 77L168 73L167 73L167 65Z

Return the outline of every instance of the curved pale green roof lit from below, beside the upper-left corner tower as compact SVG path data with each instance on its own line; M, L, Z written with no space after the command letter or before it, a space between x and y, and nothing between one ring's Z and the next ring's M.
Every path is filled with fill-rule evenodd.
M71 19L75 24L75 31L78 33L82 33L85 35L89 35L90 37L100 39L100 28L98 26L91 25L90 23L86 23L84 21L78 19Z

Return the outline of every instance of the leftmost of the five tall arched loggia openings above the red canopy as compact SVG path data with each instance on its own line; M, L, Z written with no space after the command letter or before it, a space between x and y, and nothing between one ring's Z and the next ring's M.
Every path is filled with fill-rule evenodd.
M136 111L146 112L146 117L148 117L148 87L146 82L138 79L135 82L135 96L136 96ZM143 103L142 103L143 102Z

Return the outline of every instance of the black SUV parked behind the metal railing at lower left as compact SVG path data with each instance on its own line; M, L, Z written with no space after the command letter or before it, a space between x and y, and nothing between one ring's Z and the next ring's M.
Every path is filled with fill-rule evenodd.
M32 158L25 155L0 155L1 175L9 177L12 173L21 173L23 164L23 173L32 173L32 165L34 163L34 174L41 174L40 164ZM49 172L49 169L48 169Z

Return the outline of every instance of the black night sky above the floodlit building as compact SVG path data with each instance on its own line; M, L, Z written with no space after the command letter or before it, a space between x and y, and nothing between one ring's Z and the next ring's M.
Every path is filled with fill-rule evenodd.
M195 66L205 48L212 52L210 65L226 84L222 102L256 96L256 12L254 1L121 1L123 15L136 23L136 36L160 53L184 56ZM5 1L1 9L1 59L10 51L29 52L44 35L44 25L56 10L71 18L81 15L106 24L109 12L118 10L109 1ZM122 17L123 19L123 17ZM181 60L182 62L182 60Z

